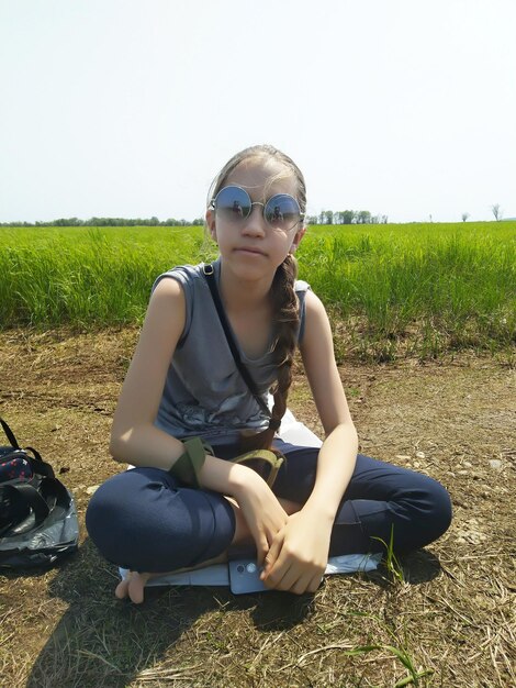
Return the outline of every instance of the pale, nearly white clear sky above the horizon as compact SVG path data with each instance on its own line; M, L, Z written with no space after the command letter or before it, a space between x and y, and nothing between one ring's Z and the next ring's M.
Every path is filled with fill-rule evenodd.
M200 217L272 143L309 212L516 215L515 0L0 0L0 221Z

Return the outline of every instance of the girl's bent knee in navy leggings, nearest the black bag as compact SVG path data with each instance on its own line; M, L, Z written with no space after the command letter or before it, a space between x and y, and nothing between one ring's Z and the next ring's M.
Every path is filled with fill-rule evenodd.
M233 539L235 515L224 497L178 488L166 471L143 468L99 487L86 526L108 561L158 573L218 555Z

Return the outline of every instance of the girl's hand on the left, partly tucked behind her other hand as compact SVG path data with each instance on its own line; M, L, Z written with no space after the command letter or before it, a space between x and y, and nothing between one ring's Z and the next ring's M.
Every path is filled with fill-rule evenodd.
M245 481L234 490L233 497L240 508L257 550L257 564L261 566L269 547L289 517L267 482L254 470L246 468Z

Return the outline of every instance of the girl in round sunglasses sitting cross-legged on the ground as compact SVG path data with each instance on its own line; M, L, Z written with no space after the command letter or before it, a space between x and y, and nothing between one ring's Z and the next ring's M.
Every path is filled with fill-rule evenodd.
M215 284L239 356L231 353L199 266L161 275L113 421L110 451L136 468L110 478L87 512L91 539L131 569L116 596L143 601L153 574L226 561L254 544L263 582L301 595L321 584L328 555L422 547L448 528L448 492L431 478L358 455L326 311L293 256L305 232L306 191L293 160L271 146L235 155L216 177L206 225L218 245ZM325 432L322 447L274 436L299 346ZM206 453L200 440L207 442ZM285 460L270 488L249 447Z

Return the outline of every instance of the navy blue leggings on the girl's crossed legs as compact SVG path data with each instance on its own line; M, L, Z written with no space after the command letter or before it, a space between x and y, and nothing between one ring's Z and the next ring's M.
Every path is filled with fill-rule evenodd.
M317 448L274 443L287 456L274 493L304 503L315 481ZM232 458L233 446L216 455ZM393 529L394 548L405 552L439 537L451 521L446 489L426 475L361 454L340 502L330 555L381 552ZM216 492L180 487L159 468L134 468L106 480L86 514L91 540L110 562L138 572L190 567L229 548L235 514ZM377 540L380 539L380 540Z

